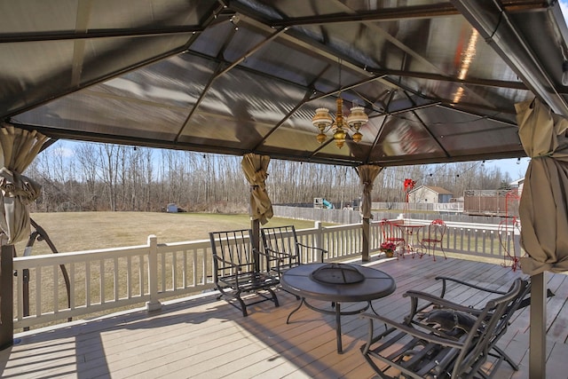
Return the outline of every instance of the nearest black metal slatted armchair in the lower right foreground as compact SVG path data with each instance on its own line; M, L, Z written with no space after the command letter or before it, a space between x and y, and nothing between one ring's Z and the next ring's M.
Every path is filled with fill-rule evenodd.
M495 343L525 297L527 286L525 280L517 279L509 291L479 309L408 291L404 296L411 298L411 312L403 322L372 313L363 315L369 321L369 333L361 352L382 378L491 376L504 357L496 357L491 373L483 366L499 355L495 352L501 352L494 349ZM417 306L419 300L429 304L429 312ZM374 336L375 321L386 325L378 336Z

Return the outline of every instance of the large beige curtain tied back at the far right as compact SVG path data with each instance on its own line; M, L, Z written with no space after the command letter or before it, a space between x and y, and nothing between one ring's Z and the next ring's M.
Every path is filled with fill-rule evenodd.
M532 158L519 204L523 272L568 271L568 121L539 100L517 108L518 134Z

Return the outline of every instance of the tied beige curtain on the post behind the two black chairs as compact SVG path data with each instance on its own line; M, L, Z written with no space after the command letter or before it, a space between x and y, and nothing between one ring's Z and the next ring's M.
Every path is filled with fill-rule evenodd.
M253 153L242 157L242 170L250 185L250 201L248 213L253 220L259 220L262 225L272 218L272 202L266 192L264 181L268 178L268 163L270 156Z

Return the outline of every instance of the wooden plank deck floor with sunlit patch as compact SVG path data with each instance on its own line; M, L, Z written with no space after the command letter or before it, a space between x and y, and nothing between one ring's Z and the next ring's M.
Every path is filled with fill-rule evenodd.
M374 302L377 312L399 319L408 310L401 295L407 289L434 290L439 275L470 280L491 288L508 288L522 276L510 268L458 259L406 258L372 263L389 272L397 291ZM568 280L548 274L548 377L568 377ZM462 293L461 298L479 301ZM59 328L18 335L20 343L0 351L3 378L368 378L374 372L359 346L367 336L367 322L345 316L343 354L335 351L335 325L303 307L287 325L296 298L279 291L280 308L271 303L249 308L249 316L204 294L163 304L162 310L122 312L97 320L75 321ZM345 304L344 308L347 306ZM351 304L357 306L357 304ZM528 377L528 309L517 312L501 347L520 361L513 371L503 363L497 378Z

